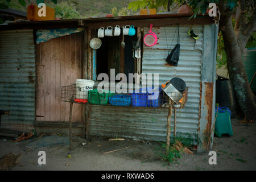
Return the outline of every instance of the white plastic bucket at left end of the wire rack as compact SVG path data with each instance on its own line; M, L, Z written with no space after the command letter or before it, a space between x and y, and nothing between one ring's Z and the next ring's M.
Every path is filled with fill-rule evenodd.
M77 79L76 80L76 98L87 99L88 91L92 90L93 86L94 86L93 80Z

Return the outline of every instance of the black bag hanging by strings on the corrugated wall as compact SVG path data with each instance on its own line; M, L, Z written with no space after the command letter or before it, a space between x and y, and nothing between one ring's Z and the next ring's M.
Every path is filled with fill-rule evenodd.
M174 65L175 67L177 67L177 63L178 63L179 57L180 57L180 26L179 26L179 24L178 24L176 30L177 29L178 29L178 32L177 32L177 44L174 47L174 49L172 49L171 53L168 53L168 56L166 58L166 62L168 64ZM175 30L175 33L174 33L174 37L175 37L175 34L176 34L176 30ZM172 39L172 41L173 40L174 39ZM167 48L168 48L168 44L167 44Z

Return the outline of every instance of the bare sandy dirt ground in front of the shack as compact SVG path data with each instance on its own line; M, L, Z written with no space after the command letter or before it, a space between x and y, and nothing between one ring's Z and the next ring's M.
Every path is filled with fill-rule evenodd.
M9 152L21 153L22 159L12 170L256 170L255 123L238 123L238 119L232 119L232 126L232 137L214 137L212 150L217 152L216 165L208 163L208 152L205 152L182 154L177 163L169 166L154 155L154 148L159 146L157 142L109 141L101 137L93 137L92 141L73 151L69 151L68 146L46 151L46 165L38 164L40 150L25 152L20 149L20 142L0 137L0 158ZM102 154L128 146L131 147Z

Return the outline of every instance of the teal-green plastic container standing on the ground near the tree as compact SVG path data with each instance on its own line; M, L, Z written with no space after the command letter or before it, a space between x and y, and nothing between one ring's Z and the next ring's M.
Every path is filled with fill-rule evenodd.
M215 134L217 137L221 137L222 134L229 134L229 136L233 135L232 124L228 110L218 110L214 130L216 131Z

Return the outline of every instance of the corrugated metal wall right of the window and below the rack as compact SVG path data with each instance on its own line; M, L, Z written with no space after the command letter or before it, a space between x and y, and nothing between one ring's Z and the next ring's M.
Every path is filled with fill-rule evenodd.
M166 31L164 31L164 27L153 28L159 38L158 44L153 47L143 47L142 73L159 73L159 84L165 83L172 77L183 78L189 87L189 94L185 108L177 109L177 131L195 134L199 124L203 27L193 27L196 34L200 36L200 39L195 40L188 35L191 25L180 26L181 51L179 65L178 67L170 67L166 65L165 61L168 55L166 36L168 48L173 48L177 41L176 37L174 38L176 27L166 27ZM147 31L149 29L144 28L144 34ZM165 32L167 35L165 35ZM171 46L173 38L174 41ZM167 114L168 110L166 108L147 109L93 105L89 133L90 135L106 137L165 141Z

